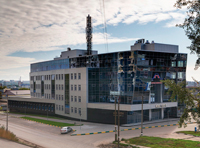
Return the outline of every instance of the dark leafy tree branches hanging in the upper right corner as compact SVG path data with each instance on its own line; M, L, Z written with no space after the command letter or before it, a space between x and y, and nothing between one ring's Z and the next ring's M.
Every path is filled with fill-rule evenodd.
M191 53L197 54L198 58L195 64L197 70L200 67L200 0L177 0L174 6L178 9L186 6L188 9L187 18L183 24L176 26L183 28L191 40L191 45L187 48Z

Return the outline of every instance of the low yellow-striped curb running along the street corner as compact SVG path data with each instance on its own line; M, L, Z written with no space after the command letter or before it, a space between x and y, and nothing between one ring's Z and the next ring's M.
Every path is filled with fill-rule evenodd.
M186 124L193 124L196 122L190 122ZM148 126L148 127L143 127L143 129L148 129L148 128L158 128L158 127L168 127L168 126L177 126L179 124L169 124L169 125L157 125L157 126ZM130 131L130 130L139 130L141 127L138 128L129 128L129 129L122 129L120 131ZM83 135L94 135L94 134L105 134L105 133L113 133L115 130L112 131L102 131L102 132L93 132L93 133L82 133L82 134L71 134L71 136L83 136ZM117 132L117 130L116 130Z

